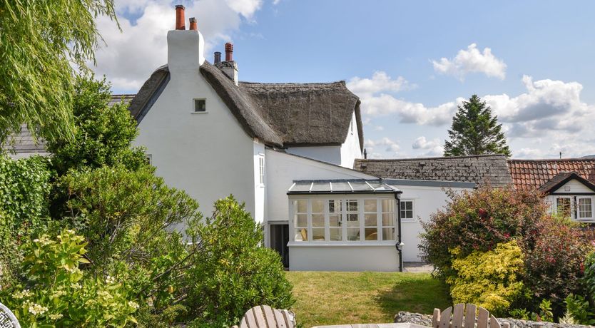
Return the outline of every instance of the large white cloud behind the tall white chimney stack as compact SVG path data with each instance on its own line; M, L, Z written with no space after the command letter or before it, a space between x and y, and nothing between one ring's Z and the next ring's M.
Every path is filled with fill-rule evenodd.
M205 37L205 57L210 58L213 47L230 41L243 19L253 20L261 5L262 0L188 2L185 17L196 17ZM153 70L167 62L166 36L174 27L175 10L167 0L126 0L116 2L116 12L122 33L110 19L97 19L107 46L96 52L95 71L105 74L118 91L134 93Z

